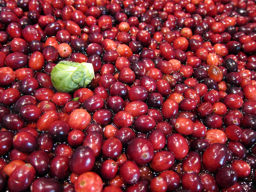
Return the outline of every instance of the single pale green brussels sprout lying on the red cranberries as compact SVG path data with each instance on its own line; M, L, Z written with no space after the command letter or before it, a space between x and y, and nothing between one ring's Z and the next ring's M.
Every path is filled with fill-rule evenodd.
M51 72L53 86L59 92L75 92L95 78L91 63L59 62Z

